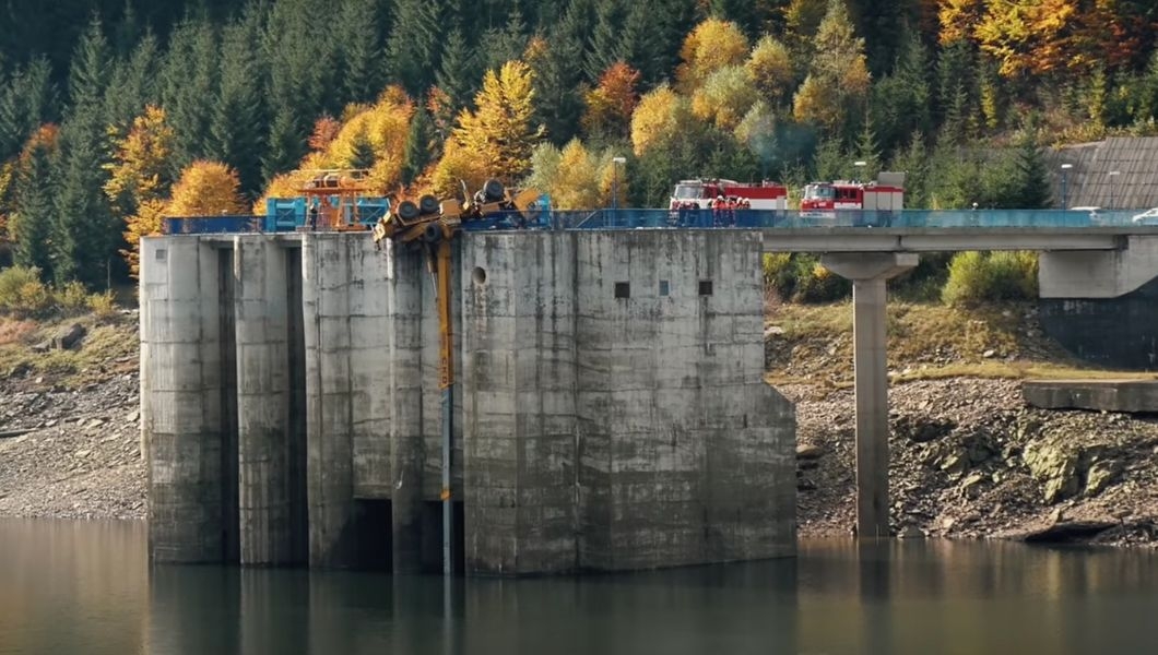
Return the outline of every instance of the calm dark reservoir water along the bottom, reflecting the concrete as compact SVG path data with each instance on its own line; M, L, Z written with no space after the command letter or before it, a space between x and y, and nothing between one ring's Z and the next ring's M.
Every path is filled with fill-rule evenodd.
M1158 553L801 544L797 560L457 581L157 567L145 525L0 521L0 653L1158 653Z

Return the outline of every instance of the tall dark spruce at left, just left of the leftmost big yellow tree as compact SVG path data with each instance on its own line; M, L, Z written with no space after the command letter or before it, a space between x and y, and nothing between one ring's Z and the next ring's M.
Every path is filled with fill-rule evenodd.
M102 102L109 45L98 20L89 23L68 73L71 110L60 128L54 165L60 181L50 226L52 272L58 282L105 282L120 237L104 197L109 153Z

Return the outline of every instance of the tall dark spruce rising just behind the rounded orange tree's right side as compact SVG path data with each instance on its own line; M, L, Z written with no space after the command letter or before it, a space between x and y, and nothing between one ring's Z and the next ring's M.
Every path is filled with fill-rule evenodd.
M262 183L262 154L267 133L265 98L259 80L263 62L252 44L261 36L261 17L250 10L228 25L221 43L221 82L212 104L206 154L225 162L241 181L243 193L252 194Z

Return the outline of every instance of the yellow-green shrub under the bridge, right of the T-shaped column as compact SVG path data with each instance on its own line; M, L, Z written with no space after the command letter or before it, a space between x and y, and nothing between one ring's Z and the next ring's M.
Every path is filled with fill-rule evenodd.
M970 307L1038 297L1035 252L959 252L948 265L945 304Z

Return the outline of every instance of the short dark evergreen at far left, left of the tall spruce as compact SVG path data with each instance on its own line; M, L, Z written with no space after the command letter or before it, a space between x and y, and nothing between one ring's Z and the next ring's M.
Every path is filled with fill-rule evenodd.
M52 143L41 140L25 152L23 165L16 178L16 205L20 208L13 231L16 246L13 263L35 266L41 273L52 275L49 251L49 225L52 221Z

